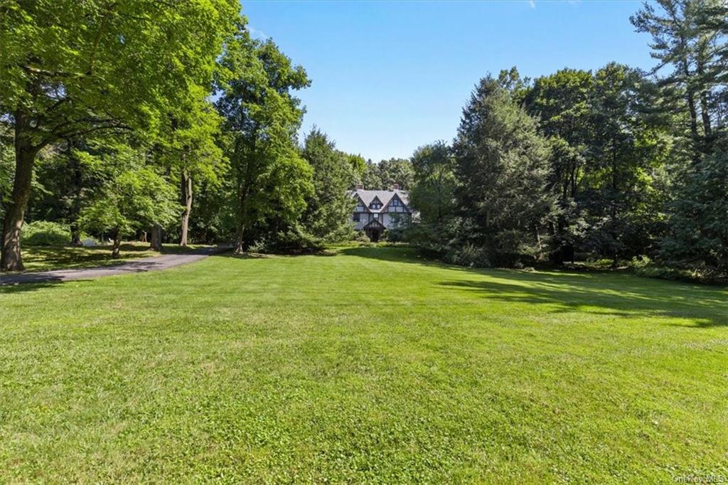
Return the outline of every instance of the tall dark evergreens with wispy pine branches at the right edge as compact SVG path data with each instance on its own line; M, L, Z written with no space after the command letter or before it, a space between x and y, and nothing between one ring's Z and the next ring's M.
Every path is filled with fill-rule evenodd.
M728 121L728 5L721 0L659 0L644 4L630 20L652 36L655 69L671 67L660 85L668 103L660 106L680 121L674 135L689 145L687 160L673 168L680 174L671 188L668 235L660 255L670 263L699 264L725 274L728 251L725 221L726 123ZM683 139L689 143L683 143ZM688 166L692 165L692 166Z

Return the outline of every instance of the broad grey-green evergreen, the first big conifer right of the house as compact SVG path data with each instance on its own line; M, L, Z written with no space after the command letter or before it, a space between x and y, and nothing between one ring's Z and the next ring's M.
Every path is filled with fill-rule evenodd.
M545 224L555 210L549 156L536 120L496 79L481 79L454 143L456 199L474 225L472 240L494 262L544 251Z

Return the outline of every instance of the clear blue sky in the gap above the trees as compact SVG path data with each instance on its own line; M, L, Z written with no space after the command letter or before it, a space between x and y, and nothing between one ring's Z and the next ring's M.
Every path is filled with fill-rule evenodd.
M374 161L451 141L478 79L502 68L541 76L610 60L650 68L639 1L242 1L312 79L298 93L312 125Z

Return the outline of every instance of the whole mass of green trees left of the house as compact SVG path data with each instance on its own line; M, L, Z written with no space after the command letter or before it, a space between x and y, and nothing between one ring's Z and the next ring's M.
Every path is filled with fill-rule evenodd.
M349 237L361 157L314 130L310 80L237 0L0 6L0 267L26 221L113 241L316 248ZM194 25L194 28L190 28ZM215 100L214 103L211 100Z

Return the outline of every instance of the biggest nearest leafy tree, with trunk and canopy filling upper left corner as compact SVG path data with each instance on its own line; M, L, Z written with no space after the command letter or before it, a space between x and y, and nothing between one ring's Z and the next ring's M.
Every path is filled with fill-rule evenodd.
M239 9L236 0L0 5L0 118L15 137L0 269L23 269L20 231L39 150L100 130L154 133L159 114L209 83Z

